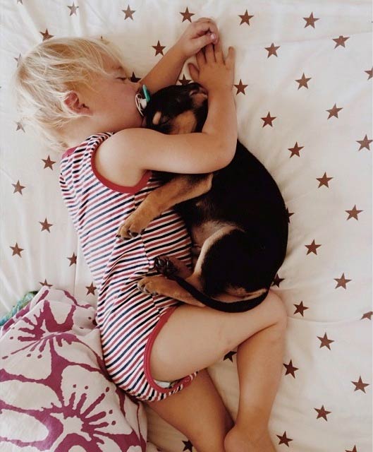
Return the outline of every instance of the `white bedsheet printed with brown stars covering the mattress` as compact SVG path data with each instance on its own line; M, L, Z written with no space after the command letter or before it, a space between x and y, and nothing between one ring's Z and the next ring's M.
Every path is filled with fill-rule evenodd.
M278 451L371 451L371 2L13 0L2 2L1 11L0 314L26 292L39 292L32 306L6 323L3 357L18 356L9 352L17 349L17 339L16 349L9 348L10 331L22 331L25 319L32 323L40 303L53 304L56 311L63 303L94 311L97 299L59 193L61 153L43 145L16 110L11 81L18 60L53 36L102 36L118 46L130 73L141 78L162 57L155 47L164 47L165 54L190 21L210 17L224 52L236 49L238 138L276 180L289 215L288 251L272 287L285 304L288 328L271 439ZM188 61L178 83L190 80ZM64 314L55 318L59 315ZM99 355L94 334L90 347ZM37 367L37 356L30 359ZM18 377L27 371L19 359L13 374L6 369L0 424L8 427L1 427L1 450L57 450L36 448L32 430L16 429L25 419L19 414L25 388L21 391ZM235 350L209 373L235 417ZM27 380L27 388L32 382L37 384ZM31 409L32 400L23 409ZM130 404L126 395L111 403L123 408L123 400ZM116 447L195 450L154 411L128 406L121 416L138 441L122 439ZM116 450L114 443L97 444L97 450Z

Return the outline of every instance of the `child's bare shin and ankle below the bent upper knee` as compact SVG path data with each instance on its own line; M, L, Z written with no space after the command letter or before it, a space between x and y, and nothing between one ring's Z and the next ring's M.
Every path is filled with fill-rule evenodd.
M236 426L226 436L226 452L274 452L269 416L281 378L286 319L238 346L240 400Z

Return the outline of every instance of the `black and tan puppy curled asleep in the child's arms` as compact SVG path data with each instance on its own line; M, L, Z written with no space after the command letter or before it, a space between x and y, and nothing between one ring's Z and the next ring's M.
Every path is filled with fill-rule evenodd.
M197 83L155 93L145 109L148 128L162 133L202 131L207 94ZM222 311L246 311L267 296L283 263L288 215L276 182L239 141L231 163L213 174L162 173L152 191L121 225L123 238L141 233L164 210L176 206L197 257L191 273L175 258L159 256L162 275L140 281L146 292L181 301L197 299Z

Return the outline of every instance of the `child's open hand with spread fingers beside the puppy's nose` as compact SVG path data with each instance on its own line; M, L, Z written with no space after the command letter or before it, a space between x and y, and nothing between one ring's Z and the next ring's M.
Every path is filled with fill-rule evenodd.
M200 83L207 91L233 88L235 50L229 47L224 61L221 44L209 44L206 49L196 55L197 66L189 63L188 68L192 79Z

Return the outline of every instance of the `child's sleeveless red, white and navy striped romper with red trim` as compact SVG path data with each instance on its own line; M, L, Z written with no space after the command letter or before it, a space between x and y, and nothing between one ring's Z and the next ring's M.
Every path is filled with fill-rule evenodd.
M157 274L154 258L161 254L176 256L190 267L190 237L174 210L162 213L135 238L116 237L123 220L161 181L150 171L132 187L102 177L94 166L94 153L111 135L98 133L68 149L61 160L60 186L85 261L99 287L97 324L106 369L124 391L152 402L188 386L197 372L173 383L152 379L152 344L180 302L145 294L137 283L145 275Z

